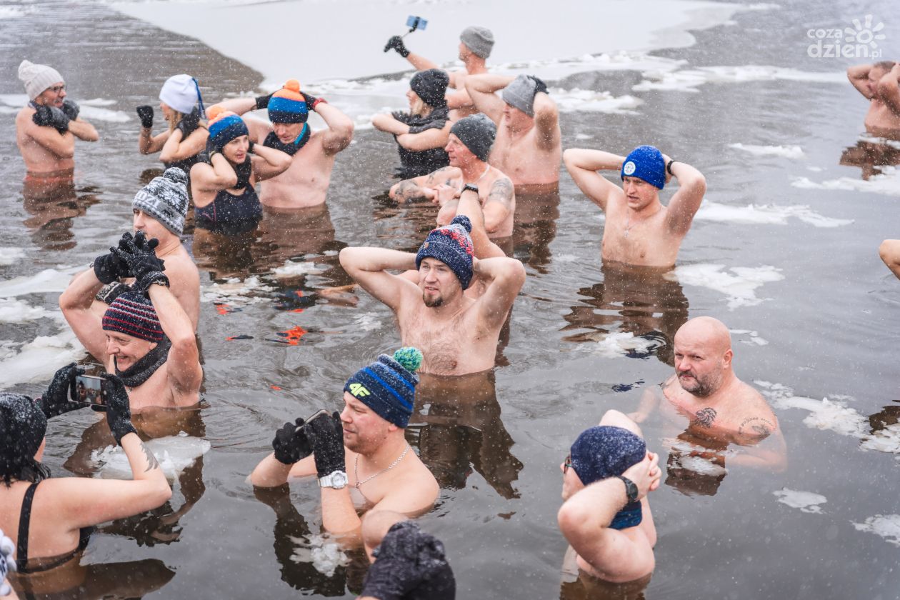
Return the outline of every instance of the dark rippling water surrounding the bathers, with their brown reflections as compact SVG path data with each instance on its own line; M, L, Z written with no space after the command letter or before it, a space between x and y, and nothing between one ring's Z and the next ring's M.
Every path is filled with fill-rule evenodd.
M35 6L35 13L0 21L0 69L7 74L0 79L2 94L21 94L15 67L23 57L58 67L76 100L111 99L115 104L107 108L130 114L136 104L156 103L159 86L175 73L197 76L212 99L251 90L261 80L193 40L103 6ZM892 7L884 0L785 3L779 10L739 13L734 25L698 32L692 48L659 54L686 59L689 67L841 71L847 61L806 56L806 30L876 13L886 21L887 47L896 51L900 30L888 21L896 14ZM601 72L557 85L618 96L640 79L634 72ZM734 336L735 369L744 381L777 382L811 399L843 398L869 417L872 431L897 422L900 282L877 252L882 239L897 237L897 197L790 185L797 176L860 177L859 167L839 166L843 149L854 146L862 130L866 106L859 94L850 85L779 80L635 95L645 101L635 115L565 113L563 147L624 153L638 143L657 144L707 176L707 200L740 207L806 205L852 223L817 228L795 218L775 225L695 221L680 265L722 264L733 276L732 267L771 265L783 276L755 290L759 303L729 309L721 291L601 269L599 211L568 175L558 202L545 200L527 211L521 207L539 201L520 197L513 253L526 261L528 279L512 310L499 366L481 379L424 382L408 433L441 483L438 505L422 522L445 542L461 598L561 595L566 544L555 525L558 465L574 437L605 409L633 410L640 386L671 372L671 335L685 318L715 316L768 341ZM138 121L96 121L102 142L76 148L76 199L35 207L23 198L13 118L0 118L0 175L7 186L0 230L2 246L23 248L25 257L0 267L4 279L86 264L130 227L130 199L141 173L158 166L136 151ZM578 134L590 139L576 139ZM754 157L728 148L737 142L798 145L806 157ZM309 550L320 532L318 489L302 482L290 492L255 495L246 477L269 452L278 424L317 407L338 407L347 374L399 344L389 310L365 293L320 293L347 283L337 267L340 247L411 249L429 227L427 209L399 208L384 198L395 160L386 148L376 132L357 132L356 143L338 157L327 212L274 216L246 239L189 240L202 266L199 335L208 407L188 422L159 429L202 435L212 449L184 471L169 505L94 535L82 560L91 565L85 586L94 589L85 597L99 596L96 590L108 591L113 583L120 589L110 594L130 597L157 588L159 597L198 598L280 598L298 591L349 597L358 591L365 572L358 557L330 578L312 566ZM272 270L289 258L310 264L302 274L274 276ZM257 287L219 294L225 278L244 280L247 273L255 273ZM53 309L57 296L22 299ZM56 320L41 318L0 325L0 334L21 343L59 329ZM603 354L599 340L608 333L644 335L646 344ZM36 395L41 387L20 384L14 390ZM693 488L679 485L678 473L667 473L666 485L652 496L660 542L644 596L900 597L896 545L853 526L874 515L900 514L897 455L865 451L857 437L810 428L803 423L806 410L777 407L776 413L788 443L787 471L729 467L724 478ZM85 452L101 443L94 438L103 433L102 425L85 432L91 423L91 416L76 414L51 424L47 461L55 473L83 472ZM663 438L669 433L658 422L651 421L645 433L653 450L668 453ZM806 514L778 502L773 492L781 488L828 501L822 514ZM563 596L587 597L582 591L570 584Z

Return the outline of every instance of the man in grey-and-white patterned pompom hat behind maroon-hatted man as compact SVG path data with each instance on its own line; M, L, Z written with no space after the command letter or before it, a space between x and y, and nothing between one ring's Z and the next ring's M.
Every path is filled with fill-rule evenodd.
M148 239L156 238L156 253L166 263L166 277L171 284L175 300L191 319L193 331L200 320L200 272L193 258L181 243L184 217L187 215L187 175L179 168L168 168L144 186L131 201L134 213L134 231L143 231ZM113 261L112 269L104 269L103 261L94 262L94 273L104 287L94 300L94 313L103 318L109 304L123 291L127 283L134 282L128 273L118 273Z

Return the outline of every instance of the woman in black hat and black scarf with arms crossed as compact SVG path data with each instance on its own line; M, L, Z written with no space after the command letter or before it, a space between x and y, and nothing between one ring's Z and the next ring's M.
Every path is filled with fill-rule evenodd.
M410 91L406 93L410 112L373 117L376 129L392 133L397 140L401 167L395 176L410 179L450 164L444 150L451 125L445 98L449 81L450 77L440 69L420 71L412 76Z

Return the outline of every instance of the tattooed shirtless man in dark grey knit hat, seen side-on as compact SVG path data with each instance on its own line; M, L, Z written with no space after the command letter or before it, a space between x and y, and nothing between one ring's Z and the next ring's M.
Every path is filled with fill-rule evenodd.
M437 224L446 225L456 216L459 194L465 184L478 186L478 201L484 213L484 228L490 237L512 235L516 193L509 177L488 165L488 154L497 127L483 114L464 117L450 128L446 151L450 166L429 175L394 184L390 195L396 201L427 198L440 205Z

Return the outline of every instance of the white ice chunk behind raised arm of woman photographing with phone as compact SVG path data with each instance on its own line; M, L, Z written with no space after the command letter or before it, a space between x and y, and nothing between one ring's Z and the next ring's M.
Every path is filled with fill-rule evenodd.
M206 452L210 452L211 444L199 437L181 432L168 435L144 443L150 452L157 457L159 467L166 474L166 479L174 481L185 469ZM91 461L96 467L94 477L101 479L131 479L131 468L128 457L121 446L106 446L91 452Z

